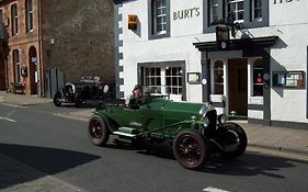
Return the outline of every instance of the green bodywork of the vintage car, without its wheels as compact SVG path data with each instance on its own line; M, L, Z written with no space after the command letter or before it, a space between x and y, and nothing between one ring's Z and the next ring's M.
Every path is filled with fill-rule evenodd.
M153 97L140 105L138 110L123 105L107 105L98 110L111 133L118 127L135 128L139 134L150 134L152 137L174 137L186 128L201 129L204 121L199 114L204 104L173 102L161 97Z

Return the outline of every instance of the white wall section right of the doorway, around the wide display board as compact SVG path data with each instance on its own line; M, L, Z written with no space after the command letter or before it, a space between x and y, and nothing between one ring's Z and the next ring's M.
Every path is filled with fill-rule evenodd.
M307 78L308 1L284 0L271 3L270 10L271 30L281 38L271 53L272 71L304 70ZM308 123L306 94L307 84L305 89L272 88L272 120Z

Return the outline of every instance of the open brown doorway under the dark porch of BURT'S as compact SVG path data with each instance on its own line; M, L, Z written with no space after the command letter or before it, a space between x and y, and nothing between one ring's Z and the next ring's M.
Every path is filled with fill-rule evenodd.
M229 114L248 115L247 58L228 59Z

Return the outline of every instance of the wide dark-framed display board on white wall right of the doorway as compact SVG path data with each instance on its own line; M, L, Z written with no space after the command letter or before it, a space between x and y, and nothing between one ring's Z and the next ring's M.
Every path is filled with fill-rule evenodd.
M273 87L303 89L304 75L304 71L275 71L273 72Z

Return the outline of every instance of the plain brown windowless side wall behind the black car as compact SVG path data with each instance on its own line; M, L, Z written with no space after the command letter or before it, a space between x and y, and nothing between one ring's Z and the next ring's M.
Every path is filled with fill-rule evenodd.
M45 70L64 70L66 81L114 82L112 0L43 0L42 24Z

